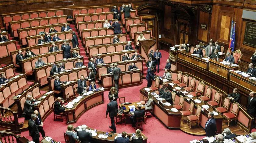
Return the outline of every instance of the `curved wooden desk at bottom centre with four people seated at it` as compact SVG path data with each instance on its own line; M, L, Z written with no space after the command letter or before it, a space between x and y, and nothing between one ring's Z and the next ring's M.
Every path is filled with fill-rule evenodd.
M79 129L79 128L76 127L76 128L74 128L74 131L77 132L78 129ZM88 130L95 130L95 129L90 128L90 127L88 127L88 126L87 126L86 129L88 129ZM97 130L96 133L97 133L97 135L94 136L94 137L92 137L92 141L93 141L93 142L97 142L97 143L114 143L115 137L116 137L118 134L121 134L121 133L109 133L110 135L112 135L112 137L109 137L109 136L108 136L108 138L104 139L104 138L98 138L98 135L99 135L99 134L106 134L106 132L104 132L104 131L98 131L98 130ZM130 133L130 134L127 133L127 135L130 135L131 137L133 136L132 133ZM143 133L141 133L141 135L143 136L143 143L147 143L147 139L148 139L148 138L147 138ZM130 138L130 142L131 142L131 138Z

